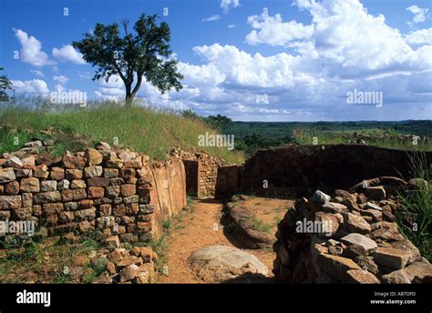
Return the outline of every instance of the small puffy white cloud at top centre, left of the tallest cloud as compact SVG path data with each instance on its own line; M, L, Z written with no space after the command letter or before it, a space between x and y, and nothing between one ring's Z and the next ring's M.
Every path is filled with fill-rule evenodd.
M252 32L246 36L250 45L287 45L293 40L308 38L314 33L314 25L303 25L296 21L284 23L282 16L252 15L248 17Z

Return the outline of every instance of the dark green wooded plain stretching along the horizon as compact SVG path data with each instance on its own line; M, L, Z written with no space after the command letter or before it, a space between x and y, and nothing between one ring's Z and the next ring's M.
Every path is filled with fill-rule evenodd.
M346 134L371 134L380 136L396 134L428 136L432 138L431 120L407 120L396 122L234 122L227 116L197 116L193 111L182 112L182 116L200 118L222 134L234 135L235 150L254 154L262 148L285 146L287 144L312 144L314 136L319 143L345 143ZM310 138L309 138L310 137ZM310 140L309 140L310 139ZM367 144L394 148L417 148L410 143L401 144L386 140L374 140ZM420 147L430 149L430 146Z

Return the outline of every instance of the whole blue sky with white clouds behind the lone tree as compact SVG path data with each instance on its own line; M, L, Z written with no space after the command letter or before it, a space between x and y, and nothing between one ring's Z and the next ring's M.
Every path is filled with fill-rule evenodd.
M91 81L95 68L69 45L96 23L158 14L170 25L185 79L180 93L168 96L142 86L139 98L151 106L256 121L431 119L430 6L420 0L2 0L0 66L15 93L78 90L90 99L122 99L121 81ZM348 104L352 92L381 93L383 106Z

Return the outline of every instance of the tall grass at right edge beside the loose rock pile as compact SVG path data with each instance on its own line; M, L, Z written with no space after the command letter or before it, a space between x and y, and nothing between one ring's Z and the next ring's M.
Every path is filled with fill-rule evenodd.
M398 196L402 207L396 217L401 232L418 247L424 257L432 261L432 173L425 154L410 157L410 167L411 175L423 179L425 183Z

